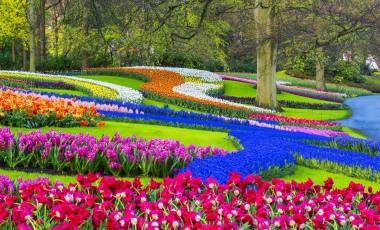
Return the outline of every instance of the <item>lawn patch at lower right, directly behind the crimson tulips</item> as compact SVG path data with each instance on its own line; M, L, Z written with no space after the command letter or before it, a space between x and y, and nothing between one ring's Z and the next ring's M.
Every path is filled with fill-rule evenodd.
M375 191L380 191L380 184L368 180L356 179L353 177L348 177L343 174L330 173L324 170L319 169L311 169L303 166L297 166L295 173L293 175L289 175L284 177L285 181L295 180L297 182L306 181L308 178L313 180L317 184L323 184L323 182L331 177L334 180L335 188L344 188L347 187L348 184L353 181L355 183L360 183L365 187L372 186Z

